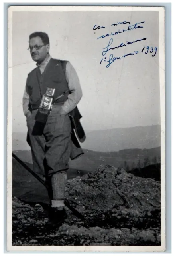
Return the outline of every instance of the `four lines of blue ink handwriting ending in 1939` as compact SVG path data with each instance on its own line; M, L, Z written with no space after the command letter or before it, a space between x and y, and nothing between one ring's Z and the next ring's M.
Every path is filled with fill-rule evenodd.
M140 54L140 53L142 53L142 54L148 54L149 53L149 54L151 54L152 57L154 57L157 53L157 47L153 47L153 46L144 46L144 47L142 46L143 48L141 48L141 49L138 48L134 52L129 52L127 54L124 54L123 56L114 56L114 54L112 52L113 50L115 50L115 52L116 52L119 48L122 48L122 47L127 47L128 48L128 46L131 45L131 44L136 44L136 46L139 47L139 43L141 41L146 41L147 38L144 37L144 38L136 38L133 41L128 40L126 42L121 42L120 44L117 44L117 45L114 44L114 38L116 38L116 35L119 36L120 34L122 34L124 32L127 32L127 31L142 29L142 28L144 28L144 26L143 26L144 23L145 23L145 21L141 21L141 22L136 22L135 24L131 25L130 22L125 20L123 22L118 22L117 21L116 23L111 24L111 27L116 27L117 26L117 27L120 27L120 28L118 28L118 30L115 31L115 32L112 31L111 33L103 34L103 35L101 35L97 38L97 40L98 40L98 39L103 39L103 38L106 38L106 37L111 37L107 46L102 48L103 58L101 59L100 64L102 65L103 62L106 62L106 68L109 68L110 65L113 62L115 62L116 60L121 60L122 58L126 58L128 56L134 56L134 55ZM126 28L121 27L121 26L124 26L124 25L126 26ZM98 30L106 29L106 27L95 25L93 27L93 30L97 30L97 29ZM109 56L108 56L108 53L110 53Z

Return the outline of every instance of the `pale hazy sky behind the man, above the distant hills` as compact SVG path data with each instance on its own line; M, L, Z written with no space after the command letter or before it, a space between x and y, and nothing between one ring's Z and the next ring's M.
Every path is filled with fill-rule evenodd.
M124 21L144 22L137 25L143 28L123 31L128 24L118 22ZM114 23L118 25L111 26ZM105 28L93 30L96 24ZM122 33L97 40L119 29ZM49 35L53 58L69 60L75 67L83 90L78 107L85 131L160 124L158 12L13 12L13 132L27 131L22 96L27 74L35 68L27 50L29 34L35 31ZM102 56L111 38L109 48L122 42L126 46ZM147 46L158 48L154 57L155 50L145 54ZM134 55L116 59L109 68L107 62L100 64L110 54L129 53Z

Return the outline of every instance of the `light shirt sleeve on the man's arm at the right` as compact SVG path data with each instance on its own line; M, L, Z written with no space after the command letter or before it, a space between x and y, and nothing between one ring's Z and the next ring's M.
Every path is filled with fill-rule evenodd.
M77 76L77 72L75 71L75 69L73 68L70 62L67 62L66 64L65 75L66 75L66 80L68 82L70 94L68 95L67 100L65 101L63 106L61 106L61 108L63 108L63 110L68 114L79 103L82 97L82 90L81 90L79 78Z

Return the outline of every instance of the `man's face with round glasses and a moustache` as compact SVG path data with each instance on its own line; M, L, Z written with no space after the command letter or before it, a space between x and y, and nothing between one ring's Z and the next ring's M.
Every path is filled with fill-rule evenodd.
M39 47L42 46L42 47L39 49L36 49L33 46L35 46L36 48L38 46ZM49 53L49 45L48 44L44 45L43 41L39 36L33 37L29 40L29 48L30 48L31 58L36 62L42 62L43 60L45 60L47 53Z

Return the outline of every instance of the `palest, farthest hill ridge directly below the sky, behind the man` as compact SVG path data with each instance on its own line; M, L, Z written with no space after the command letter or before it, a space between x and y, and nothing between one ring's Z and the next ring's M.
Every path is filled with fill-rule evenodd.
M130 148L160 147L161 128L159 125L114 128L86 132L83 148L99 152L119 151ZM13 150L28 150L26 133L13 133Z

